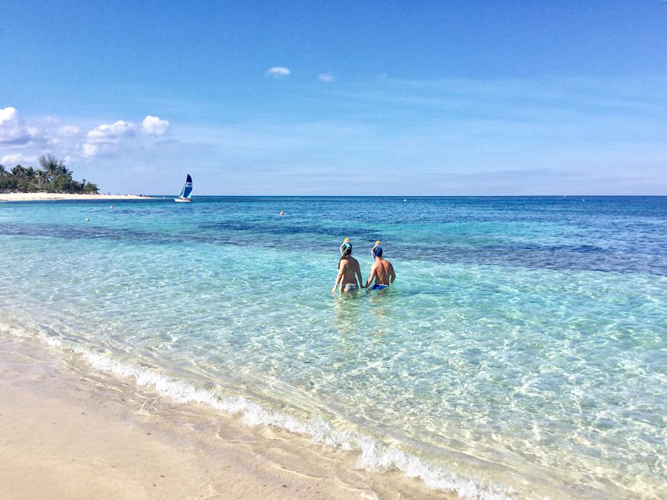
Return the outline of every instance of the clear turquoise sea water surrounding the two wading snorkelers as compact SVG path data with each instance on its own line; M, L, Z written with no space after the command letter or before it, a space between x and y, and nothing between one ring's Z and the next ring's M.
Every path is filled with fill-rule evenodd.
M345 237L395 287L331 294ZM0 203L0 256L3 334L176 401L461 497L667 498L666 197Z

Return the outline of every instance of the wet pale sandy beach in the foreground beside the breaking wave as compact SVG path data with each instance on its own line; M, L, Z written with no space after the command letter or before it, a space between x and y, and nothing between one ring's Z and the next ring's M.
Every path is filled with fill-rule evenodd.
M72 354L72 357L76 355ZM0 335L0 499L452 498Z

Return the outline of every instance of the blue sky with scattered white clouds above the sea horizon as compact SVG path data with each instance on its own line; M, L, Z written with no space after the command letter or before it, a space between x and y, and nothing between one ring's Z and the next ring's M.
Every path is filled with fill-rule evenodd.
M0 164L102 192L667 194L667 1L0 1Z

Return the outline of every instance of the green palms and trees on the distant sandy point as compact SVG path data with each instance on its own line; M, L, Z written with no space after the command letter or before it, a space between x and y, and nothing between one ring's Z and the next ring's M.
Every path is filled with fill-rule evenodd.
M35 170L33 167L16 165L7 170L0 165L0 192L99 193L96 184L85 179L74 181L72 170L53 155L40 156L40 167Z

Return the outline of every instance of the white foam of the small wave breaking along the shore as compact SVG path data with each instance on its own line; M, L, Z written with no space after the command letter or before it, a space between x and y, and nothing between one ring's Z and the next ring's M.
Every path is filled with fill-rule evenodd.
M31 337L31 333L14 325L0 323L4 331L17 337ZM266 410L260 404L244 397L217 397L204 390L174 378L156 374L148 369L120 363L103 353L95 353L79 344L63 340L57 335L40 333L39 338L60 351L73 351L100 372L113 374L123 379L133 379L138 387L149 387L176 403L199 403L227 415L240 418L247 426L272 426L291 433L310 437L323 447L359 453L357 466L372 472L399 470L410 478L419 478L433 489L455 492L470 500L507 500L520 498L509 487L489 484L478 478L461 476L443 465L425 462L418 456L406 453L397 447L388 446L363 433L339 431L318 416L305 422L282 412Z

